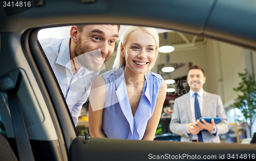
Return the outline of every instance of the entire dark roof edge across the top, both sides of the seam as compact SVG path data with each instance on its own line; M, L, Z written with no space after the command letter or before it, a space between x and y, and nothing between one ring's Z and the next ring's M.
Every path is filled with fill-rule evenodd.
M93 3L51 0L11 16L1 7L0 19L1 32L22 34L30 28L82 23L132 24L187 32L256 49L253 0L97 0Z

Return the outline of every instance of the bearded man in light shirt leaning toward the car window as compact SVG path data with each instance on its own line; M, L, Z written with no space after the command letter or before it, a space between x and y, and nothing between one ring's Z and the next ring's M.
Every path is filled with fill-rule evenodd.
M72 26L65 39L39 40L75 125L93 80L114 52L119 29L119 25Z

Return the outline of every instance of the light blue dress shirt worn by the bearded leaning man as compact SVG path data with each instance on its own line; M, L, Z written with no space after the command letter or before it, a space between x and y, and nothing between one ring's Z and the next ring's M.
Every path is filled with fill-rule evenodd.
M70 36L65 39L41 39L39 42L57 78L74 124L77 125L82 105L87 101L91 84L99 72L89 71L86 67L80 67L75 74L72 72Z

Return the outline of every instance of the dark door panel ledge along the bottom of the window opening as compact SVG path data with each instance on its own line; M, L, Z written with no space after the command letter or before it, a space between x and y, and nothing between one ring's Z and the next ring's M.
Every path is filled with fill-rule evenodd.
M211 157L207 160L228 159L227 154L254 154L256 145L212 144L212 143L185 143L164 141L136 141L122 139L107 139L91 137L85 141L84 137L77 137L70 148L71 160L148 160L177 159L195 160ZM153 156L154 155L154 156ZM158 156L157 156L158 155ZM161 156L162 155L162 156ZM186 155L186 156L185 156ZM200 156L195 158L195 155ZM255 155L255 154L254 154ZM190 158L191 159L191 158Z

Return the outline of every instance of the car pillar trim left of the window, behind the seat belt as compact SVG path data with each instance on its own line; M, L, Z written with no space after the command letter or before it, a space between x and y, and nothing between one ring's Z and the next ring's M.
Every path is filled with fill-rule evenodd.
M17 90L19 108L23 113L34 157L38 160L63 160L63 148L56 133L48 106L30 65L23 53L21 35L17 33L2 33L0 54L0 114L5 125L8 140L17 156L15 135L9 110L7 92L12 89L17 76L20 75L20 85ZM63 147L63 145L62 145ZM66 150L66 148L64 149ZM66 156L67 158L67 156Z

